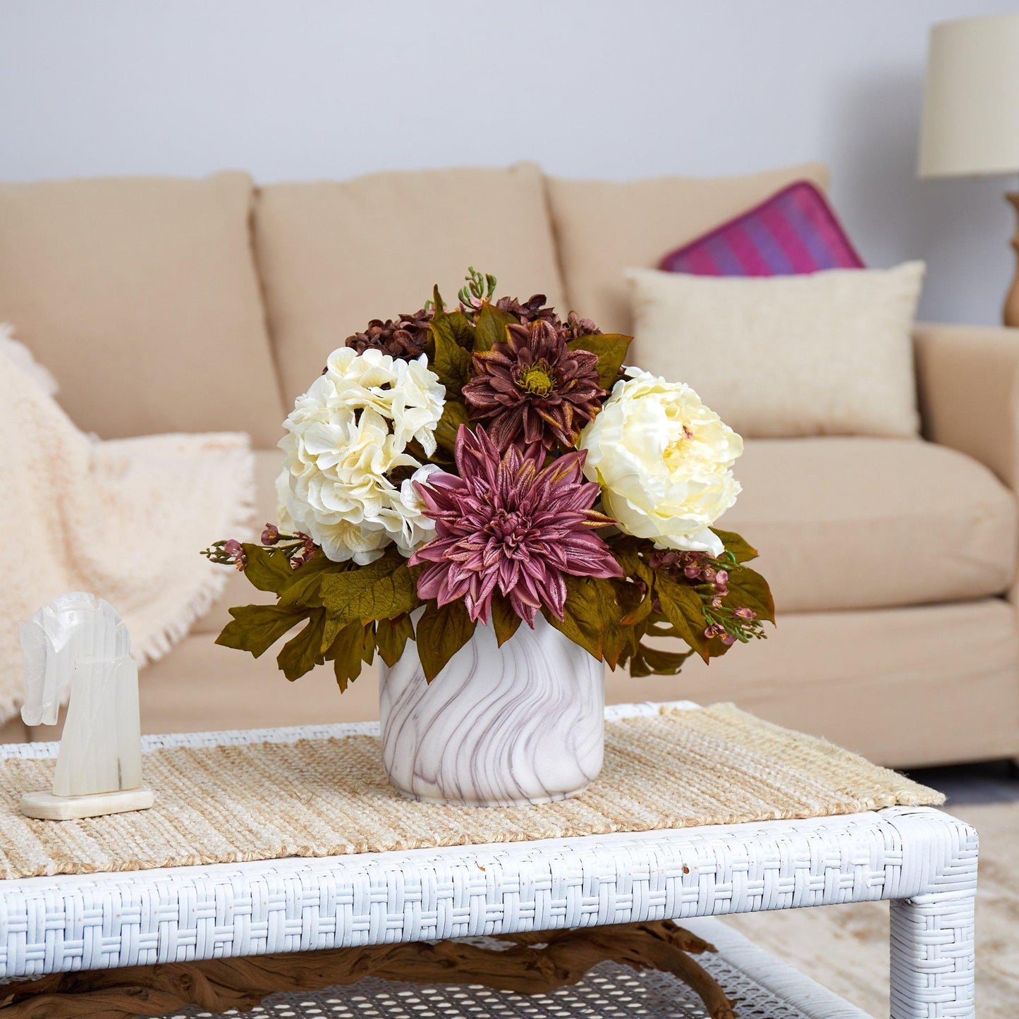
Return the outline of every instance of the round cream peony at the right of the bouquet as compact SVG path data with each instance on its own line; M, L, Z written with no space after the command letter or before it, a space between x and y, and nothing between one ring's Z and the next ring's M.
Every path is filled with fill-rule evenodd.
M581 432L584 473L626 533L720 555L708 528L740 493L731 468L743 439L688 385L638 368L627 375Z

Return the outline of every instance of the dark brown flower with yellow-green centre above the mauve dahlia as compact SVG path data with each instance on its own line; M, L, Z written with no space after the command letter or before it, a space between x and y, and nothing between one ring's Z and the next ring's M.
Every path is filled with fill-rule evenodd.
M562 332L541 319L511 325L507 341L475 354L464 386L471 420L485 424L500 449L518 443L575 445L598 413L598 358L571 351Z

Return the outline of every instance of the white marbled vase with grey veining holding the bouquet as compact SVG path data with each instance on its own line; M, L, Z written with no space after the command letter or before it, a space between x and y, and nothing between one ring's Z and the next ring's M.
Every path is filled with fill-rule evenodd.
M409 641L380 668L382 762L407 797L479 807L564 800L601 770L604 673L539 613L502 647L478 625L425 682Z

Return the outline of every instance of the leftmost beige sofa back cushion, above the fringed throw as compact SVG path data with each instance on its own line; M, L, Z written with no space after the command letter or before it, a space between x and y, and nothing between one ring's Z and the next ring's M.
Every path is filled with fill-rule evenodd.
M103 438L280 433L243 173L0 184L0 321Z

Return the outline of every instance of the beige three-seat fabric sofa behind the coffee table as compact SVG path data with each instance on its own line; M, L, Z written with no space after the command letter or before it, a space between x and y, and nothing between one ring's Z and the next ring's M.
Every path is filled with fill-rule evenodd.
M632 183L520 165L262 187L242 173L2 184L0 321L85 429L250 432L261 522L285 409L369 318L415 310L435 282L451 297L472 264L500 293L543 291L626 331L625 266L804 177L826 183L810 164ZM747 442L726 526L761 550L770 639L679 678L609 675L610 701L734 700L894 765L1019 752L1019 333L923 326L916 362L926 441ZM196 534L196 553L218 537ZM231 576L143 672L148 731L375 715L373 674L340 697L326 669L288 686L271 654L215 646L226 605L253 593Z

